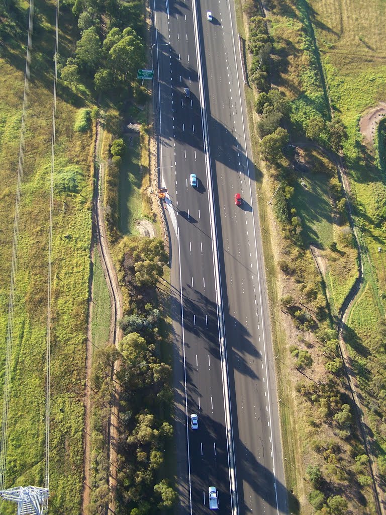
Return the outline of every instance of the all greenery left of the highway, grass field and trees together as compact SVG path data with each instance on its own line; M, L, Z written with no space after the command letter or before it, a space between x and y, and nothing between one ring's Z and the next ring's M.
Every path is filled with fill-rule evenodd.
M176 500L173 490L170 358L167 300L155 283L167 255L163 242L143 243L137 217L154 219L149 187L147 91L134 79L145 59L141 2L62 2L59 50L54 48L55 4L35 3L31 86L27 113L26 159L16 278L12 402L9 412L9 468L6 486L42 484L44 477L45 332L49 170L54 59L58 63L57 148L54 201L54 316L51 350L52 509L81 510L84 429L84 361L91 238L95 129L101 119L103 196L107 231L125 299L124 338L109 347L110 299L95 258L92 381L92 494L90 513L106 510L109 491L109 427L113 389L119 400L117 513L163 511ZM4 310L7 330L15 177L21 130L27 6L9 0L0 6L0 204ZM125 100L121 100L125 98ZM99 104L98 104L99 102ZM145 106L145 109L144 109ZM139 136L130 138L128 123ZM126 181L126 182L125 182ZM118 191L121 185L126 188ZM132 205L135 209L130 211ZM130 209L126 209L125 207ZM123 220L125 218L125 220ZM130 260L132 264L130 264ZM134 325L133 325L134 324ZM134 327L135 326L135 327ZM118 360L118 361L117 361ZM119 372L114 368L119 364ZM135 368L136 367L136 368ZM134 368L136 373L133 374ZM3 384L3 382L1 382ZM89 388L87 386L87 388ZM150 490L149 490L150 488ZM5 512L12 507L3 505ZM8 510L8 511L7 511Z

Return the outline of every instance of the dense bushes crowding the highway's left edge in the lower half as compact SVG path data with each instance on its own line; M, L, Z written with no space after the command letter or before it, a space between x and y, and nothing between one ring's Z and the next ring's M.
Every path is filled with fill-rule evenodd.
M106 402L99 411L96 430L106 434L106 421L112 399L112 367L119 359L116 382L119 384L119 438L117 504L119 512L137 515L155 513L170 508L177 494L165 478L165 453L173 435L170 387L172 370L162 361L162 314L156 305L153 279L146 288L137 281L136 265L149 262L156 265L156 278L163 273L162 264L168 260L164 243L156 238L125 238L120 243L121 266L124 267L124 286L129 291L132 305L126 307L119 325L125 336L115 355L102 355L100 365L93 374L93 389ZM142 279L142 278L141 278ZM109 370L109 372L108 372ZM102 436L101 436L102 438ZM103 442L100 447L103 448ZM105 448L103 448L105 449ZM94 486L91 515L104 512L108 497L104 455L99 464L94 459ZM103 466L102 466L103 465Z

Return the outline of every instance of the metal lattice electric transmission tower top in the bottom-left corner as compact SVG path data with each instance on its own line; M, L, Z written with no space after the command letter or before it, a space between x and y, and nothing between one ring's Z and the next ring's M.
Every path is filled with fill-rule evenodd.
M38 486L18 486L0 490L2 499L17 504L17 515L46 515L48 494L48 488Z

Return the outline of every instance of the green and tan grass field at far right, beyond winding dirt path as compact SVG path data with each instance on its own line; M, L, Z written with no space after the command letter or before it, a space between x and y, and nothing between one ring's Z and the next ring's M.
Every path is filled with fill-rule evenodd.
M347 319L346 331L354 366L360 371L371 352L372 341L378 336L378 322L385 311L386 179L378 165L382 160L376 160L362 144L359 119L367 108L386 100L386 5L381 0L320 0L311 1L310 5L332 105L347 128L343 152L365 251L364 285ZM366 382L362 386L365 388ZM375 431L374 424L372 429ZM379 435L379 426L375 433ZM378 441L386 452L383 438Z

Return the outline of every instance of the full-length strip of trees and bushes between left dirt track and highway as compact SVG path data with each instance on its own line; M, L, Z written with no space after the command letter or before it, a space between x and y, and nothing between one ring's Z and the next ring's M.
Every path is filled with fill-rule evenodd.
M99 100L98 112L93 108L83 111L79 125L93 117L100 121L101 199L123 299L118 347L99 334L99 344L93 348L89 513L106 512L113 498L118 514L165 512L177 496L171 458L168 302L167 294L164 297L156 288L168 255L163 241L137 236L138 221L155 221L148 193L149 95L134 80L145 59L144 6L141 2L107 5L77 0L69 8L78 19L80 36L75 53L66 59L59 55L58 60L70 89L87 91ZM96 288L97 281L95 273L94 300L106 306L107 292ZM98 325L94 313L99 311L94 310L95 306L93 324ZM104 323L106 319L104 314ZM112 417L116 403L118 415ZM110 424L118 431L113 444L117 453L114 489Z

